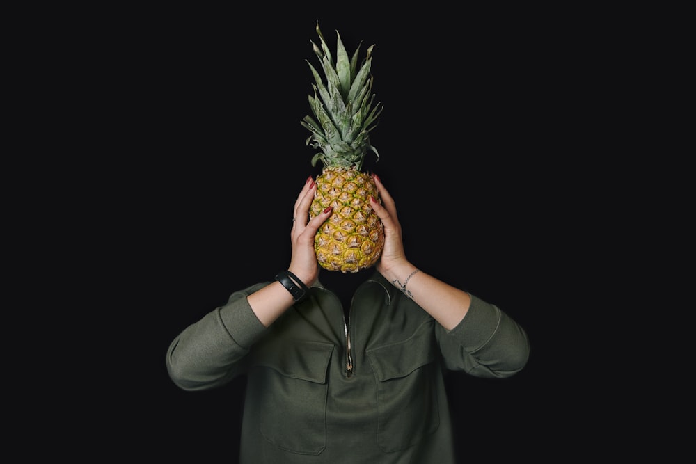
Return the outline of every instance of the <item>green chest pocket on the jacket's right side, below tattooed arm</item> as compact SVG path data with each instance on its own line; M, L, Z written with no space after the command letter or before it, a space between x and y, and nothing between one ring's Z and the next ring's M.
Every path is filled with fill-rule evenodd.
M377 440L383 451L416 444L440 424L432 324L404 342L366 351L377 383Z

